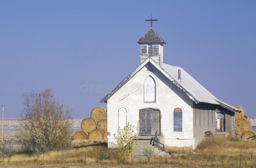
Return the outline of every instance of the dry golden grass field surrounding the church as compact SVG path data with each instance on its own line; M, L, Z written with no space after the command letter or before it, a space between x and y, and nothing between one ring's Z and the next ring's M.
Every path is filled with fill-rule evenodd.
M15 165L14 167L83 167L86 149L86 164L89 167L130 167L131 160L126 160L122 165L118 162L118 149L108 149L104 141L73 141L72 147L65 150L50 151L39 157L29 154L16 154L8 163L5 159L1 164ZM148 162L145 160L133 160L132 167L239 167L240 154L242 167L256 167L256 141L243 141L238 139L228 139L224 136L208 137L202 141L195 150L184 148L182 157L182 148L166 147L170 155L163 157L152 157ZM241 153L242 149L242 153ZM99 152L107 153L104 160L99 159ZM182 159L183 158L183 159ZM183 163L183 166L182 166ZM8 167L9 167L8 166ZM11 166L12 167L12 166Z

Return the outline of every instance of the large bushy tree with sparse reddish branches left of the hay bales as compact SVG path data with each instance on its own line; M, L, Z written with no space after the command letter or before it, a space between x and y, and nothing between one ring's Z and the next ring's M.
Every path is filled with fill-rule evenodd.
M43 152L66 145L71 137L73 124L71 110L56 102L51 89L42 93L25 93L24 109L20 115L18 138L26 150L37 156Z

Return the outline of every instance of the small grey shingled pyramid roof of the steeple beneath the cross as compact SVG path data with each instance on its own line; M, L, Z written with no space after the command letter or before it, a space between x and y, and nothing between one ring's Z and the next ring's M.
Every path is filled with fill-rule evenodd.
M159 43L164 43L164 39L160 37L159 34L156 33L156 31L151 27L140 39L137 41L137 43L154 43L154 42L159 42Z

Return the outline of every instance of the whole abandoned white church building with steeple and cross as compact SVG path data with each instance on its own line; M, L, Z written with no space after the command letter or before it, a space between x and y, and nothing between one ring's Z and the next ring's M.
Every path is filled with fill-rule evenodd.
M234 113L240 110L218 100L181 67L163 62L166 42L152 28L155 20L147 20L151 28L137 41L140 65L100 101L107 103L108 147L128 122L138 139L157 133L168 146L195 148L206 131L234 136Z

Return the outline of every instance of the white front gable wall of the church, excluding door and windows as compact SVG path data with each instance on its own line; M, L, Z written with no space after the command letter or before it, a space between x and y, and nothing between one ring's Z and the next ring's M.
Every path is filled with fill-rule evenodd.
M152 65L153 66L153 65ZM193 101L168 80L154 66L156 72L147 72L143 67L132 79L108 99L108 147L114 147L113 134L118 128L118 110L125 108L127 111L127 122L135 126L134 131L139 134L139 110L144 108L156 108L161 111L161 137L160 142L168 146L192 146L193 138ZM178 73L178 72L177 72ZM156 81L156 103L144 103L144 80L151 75ZM135 88L138 89L136 90ZM122 96L132 90L130 95L124 99ZM119 100L121 101L119 101ZM173 132L173 110L182 108L182 132Z

